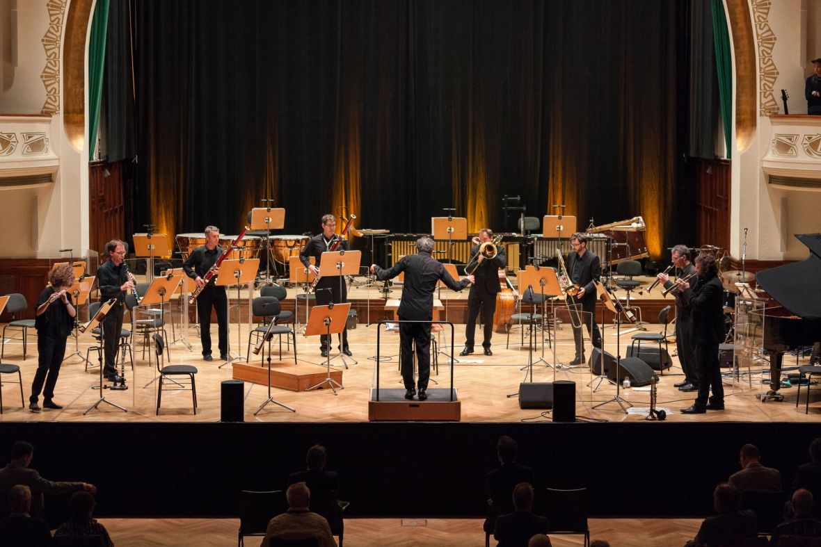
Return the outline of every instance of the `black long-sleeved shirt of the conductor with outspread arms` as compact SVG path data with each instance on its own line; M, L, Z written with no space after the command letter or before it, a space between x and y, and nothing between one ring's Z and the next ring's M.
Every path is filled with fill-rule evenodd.
M454 280L442 262L433 260L430 253L409 254L388 270L376 267L376 278L380 281L393 279L400 272L405 272L405 285L402 287L402 299L398 315L411 321L430 321L433 319L433 291L438 280L453 290L464 289L470 285L469 280Z

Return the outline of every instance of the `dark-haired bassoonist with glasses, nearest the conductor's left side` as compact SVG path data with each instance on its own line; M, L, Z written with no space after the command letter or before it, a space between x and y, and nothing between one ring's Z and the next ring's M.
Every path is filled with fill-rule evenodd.
M322 262L322 253L327 252L330 250L334 244L337 243L338 235L334 233L334 230L337 229L337 219L333 217L333 215L323 215L322 217L322 233L319 235L314 235L311 239L308 240L308 243L305 244L305 247L302 248L300 252L300 262L302 262L306 268L308 268L314 276L319 276L319 264ZM346 239L342 239L337 247L337 250L348 250L348 242ZM310 258L314 257L316 261L316 266L310 263ZM348 291L345 283L342 283L342 287L340 287L339 278L334 277L323 277L319 280L316 285L316 303L318 305L324 306L329 303L342 303L346 302L348 299ZM321 335L319 337L321 345L319 349L322 353L323 357L328 357L328 352L331 349L331 338L328 335ZM351 349L348 348L348 330L342 330L342 344L339 347L342 353L346 355L353 355L351 353Z

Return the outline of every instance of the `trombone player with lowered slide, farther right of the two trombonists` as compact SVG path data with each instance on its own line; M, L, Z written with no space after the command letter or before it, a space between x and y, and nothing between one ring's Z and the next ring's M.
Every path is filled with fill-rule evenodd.
M596 288L593 281L602 276L602 264L599 257L587 249L587 234L576 232L571 235L570 245L573 252L567 258L567 272L571 276L571 281L579 285L580 289L575 297L570 296L568 300L581 305L581 311L585 312L581 320L585 321L590 340L594 347L601 348L602 335L596 324ZM576 340L576 358L570 364L584 364L585 341L581 334L581 326L573 327L573 339Z

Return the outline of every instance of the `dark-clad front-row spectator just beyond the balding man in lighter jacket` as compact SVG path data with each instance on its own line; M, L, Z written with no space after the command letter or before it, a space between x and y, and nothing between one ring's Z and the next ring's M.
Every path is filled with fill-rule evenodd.
M288 485L304 482L310 490L310 510L325 517L334 535L342 535L342 508L339 506L339 474L325 471L328 452L322 444L314 444L305 456L306 471L291 473Z

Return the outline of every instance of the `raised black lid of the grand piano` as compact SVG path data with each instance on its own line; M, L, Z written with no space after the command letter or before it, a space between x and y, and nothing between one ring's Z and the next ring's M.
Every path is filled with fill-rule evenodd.
M810 256L759 271L755 280L784 308L804 319L821 319L821 233L796 234Z

